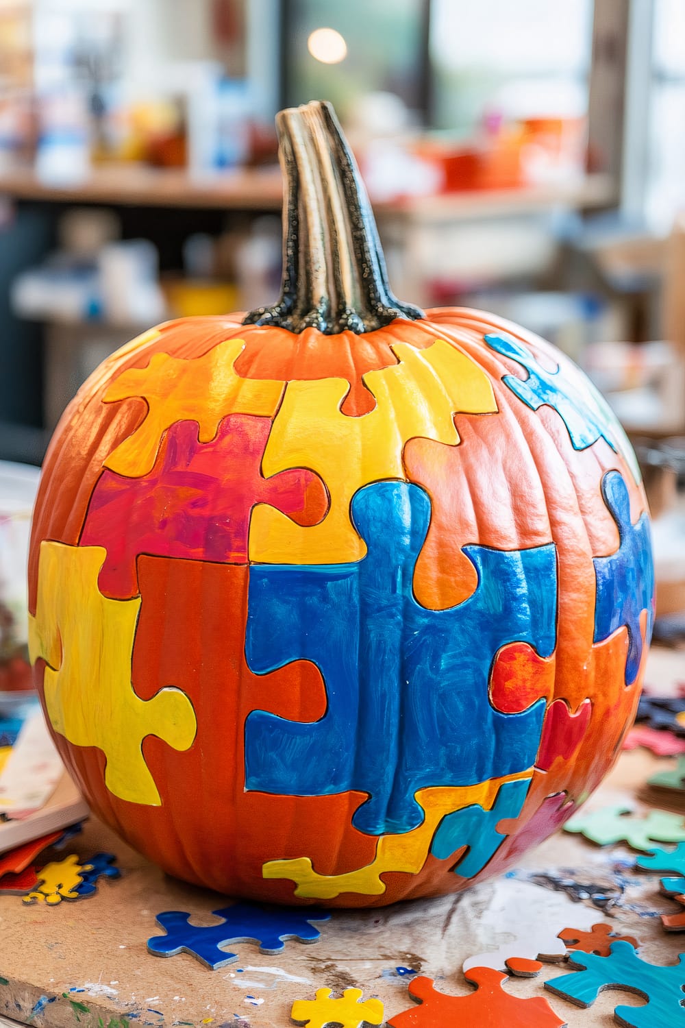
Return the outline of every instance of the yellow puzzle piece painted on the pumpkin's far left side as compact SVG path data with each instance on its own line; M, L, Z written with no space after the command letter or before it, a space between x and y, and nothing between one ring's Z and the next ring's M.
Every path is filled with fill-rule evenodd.
M108 599L98 589L102 546L40 544L36 617L29 618L31 660L42 657L45 706L55 732L76 746L105 754L105 784L129 803L160 806L143 757L143 739L156 735L175 749L195 738L192 704L179 689L142 700L130 681L141 607Z

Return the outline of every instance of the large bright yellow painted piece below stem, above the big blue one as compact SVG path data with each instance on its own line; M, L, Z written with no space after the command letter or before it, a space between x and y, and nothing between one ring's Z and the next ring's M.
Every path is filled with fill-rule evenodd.
M392 350L399 364L364 376L376 407L360 417L340 412L349 389L342 378L287 384L262 474L310 468L326 482L331 507L320 524L302 527L275 508L259 505L250 526L251 560L289 564L360 560L367 547L349 515L356 490L381 479L405 479L403 450L415 436L456 445L455 412L497 410L486 373L449 342L437 339L423 351L397 343Z

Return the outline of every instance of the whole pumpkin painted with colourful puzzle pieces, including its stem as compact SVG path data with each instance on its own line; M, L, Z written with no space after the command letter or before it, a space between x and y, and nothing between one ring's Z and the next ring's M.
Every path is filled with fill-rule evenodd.
M387 287L322 104L278 117L283 292L172 322L52 439L31 651L93 810L220 892L357 907L544 839L633 722L639 470L582 373Z

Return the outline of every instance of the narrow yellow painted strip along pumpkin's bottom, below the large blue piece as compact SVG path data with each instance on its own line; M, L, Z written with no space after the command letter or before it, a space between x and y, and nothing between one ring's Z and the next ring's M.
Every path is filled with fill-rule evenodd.
M341 892L381 895L385 892L381 875L386 872L404 871L409 875L418 875L426 861L435 829L447 814L475 803L484 810L491 810L502 782L530 777L531 772L525 771L503 778L491 778L478 785L421 788L416 799L425 811L423 822L411 832L381 836L376 856L366 867L343 875L319 875L308 856L299 856L293 860L269 860L262 867L262 877L290 878L297 885L295 895L308 898L334 900Z

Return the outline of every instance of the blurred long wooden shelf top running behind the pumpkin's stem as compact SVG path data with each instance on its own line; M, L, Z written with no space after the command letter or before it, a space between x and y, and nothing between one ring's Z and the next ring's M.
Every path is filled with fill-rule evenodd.
M220 208L235 211L280 211L281 179L277 168L245 169L196 179L185 171L113 166L93 169L74 185L48 185L32 170L0 175L0 194L15 199L124 207ZM379 214L420 221L493 217L553 208L602 207L616 196L608 175L588 175L575 182L518 189L464 190L374 203Z

